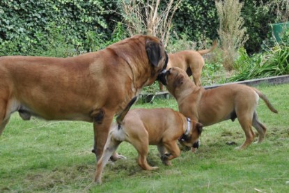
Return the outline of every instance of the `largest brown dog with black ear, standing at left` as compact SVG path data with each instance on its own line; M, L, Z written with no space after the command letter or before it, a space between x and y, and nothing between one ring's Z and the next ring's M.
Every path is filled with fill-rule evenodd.
M15 111L24 120L89 121L99 158L114 115L155 82L167 60L162 42L150 36L65 59L0 57L0 134Z

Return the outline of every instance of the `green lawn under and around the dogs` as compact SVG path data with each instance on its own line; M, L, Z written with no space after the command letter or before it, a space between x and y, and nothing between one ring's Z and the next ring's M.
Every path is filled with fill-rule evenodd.
M289 84L258 88L279 110L273 114L260 100L258 116L268 129L262 144L235 150L244 132L226 121L204 128L198 151L182 152L171 167L150 146L148 162L159 170L143 171L124 142L118 153L127 160L108 164L100 186L92 183L91 123L22 121L14 114L0 137L0 192L289 192ZM178 109L173 99L136 107Z

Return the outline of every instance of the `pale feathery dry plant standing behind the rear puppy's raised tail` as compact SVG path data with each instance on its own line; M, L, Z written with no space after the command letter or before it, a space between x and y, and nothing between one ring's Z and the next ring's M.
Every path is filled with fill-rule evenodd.
M237 50L244 46L249 36L246 28L243 28L244 19L241 17L243 3L239 0L216 1L219 15L219 38L223 49L223 65L228 71L233 70L233 63L237 56Z

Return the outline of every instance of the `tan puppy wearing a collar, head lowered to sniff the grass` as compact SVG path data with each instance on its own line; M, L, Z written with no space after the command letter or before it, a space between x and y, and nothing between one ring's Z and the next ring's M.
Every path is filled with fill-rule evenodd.
M178 111L167 108L133 109L127 113L133 102L130 102L127 109L118 116L119 124L111 127L104 153L97 162L97 183L102 183L102 171L122 141L127 141L136 148L139 153L137 162L145 170L157 169L151 167L146 160L148 145L157 146L162 162L166 165L170 165L169 160L180 155L180 148L176 143L178 139L183 146L198 148L198 141L192 139L198 139L201 134L201 123L191 123Z

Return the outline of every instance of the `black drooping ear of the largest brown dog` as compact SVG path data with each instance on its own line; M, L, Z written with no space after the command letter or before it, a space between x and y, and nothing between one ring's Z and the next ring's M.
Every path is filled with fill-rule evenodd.
M150 63L152 63L154 67L157 67L159 60L162 59L159 44L153 41L148 41L146 43L146 54L148 54L148 60Z

